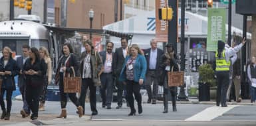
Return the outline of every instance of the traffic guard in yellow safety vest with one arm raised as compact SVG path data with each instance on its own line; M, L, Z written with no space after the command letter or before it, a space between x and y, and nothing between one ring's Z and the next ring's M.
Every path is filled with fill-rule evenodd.
M217 44L217 52L215 54L215 74L217 76L217 99L216 105L219 106L221 102L222 107L227 107L227 88L229 86L229 59L231 56L236 54L241 47L245 44L245 39L243 42L234 48L227 48L224 50L225 42L222 40L218 40Z

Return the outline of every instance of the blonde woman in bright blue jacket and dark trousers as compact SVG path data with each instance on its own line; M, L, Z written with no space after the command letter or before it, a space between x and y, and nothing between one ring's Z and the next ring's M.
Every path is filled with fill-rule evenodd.
M126 84L126 92L131 112L128 114L135 115L134 97L138 103L138 113L142 113L142 95L140 94L140 86L144 82L146 74L146 58L143 56L138 44L132 44L130 47L130 55L126 57L122 71L120 73L120 81Z

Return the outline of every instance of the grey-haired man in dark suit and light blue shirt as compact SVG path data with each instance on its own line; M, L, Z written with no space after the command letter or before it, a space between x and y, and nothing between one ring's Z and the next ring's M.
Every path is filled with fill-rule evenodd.
M156 96L158 94L158 72L159 62L164 51L158 48L158 43L156 40L150 40L151 48L144 50L144 54L147 60L148 68L146 73L146 90L148 92L148 103L156 104ZM151 85L153 83L153 92L151 90Z

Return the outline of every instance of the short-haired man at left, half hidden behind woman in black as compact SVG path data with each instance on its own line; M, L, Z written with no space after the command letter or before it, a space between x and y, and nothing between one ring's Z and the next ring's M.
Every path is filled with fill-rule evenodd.
M23 64L25 61L29 58L29 46L27 44L22 46L22 51L23 51L23 56L20 56L17 58L17 64L20 70L23 70ZM23 73L20 71L19 72L19 77L18 77L18 86L19 86L19 91L21 92L22 99L23 99L23 109L21 110L21 115L22 117L28 117L30 114L30 109L29 105L27 104L26 98L25 98L25 89L26 89L26 84L25 84L25 76Z

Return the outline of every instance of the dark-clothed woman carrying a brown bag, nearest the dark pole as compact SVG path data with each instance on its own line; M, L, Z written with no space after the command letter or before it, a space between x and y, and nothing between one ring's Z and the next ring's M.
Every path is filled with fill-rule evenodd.
M163 113L168 113L168 92L172 96L172 111L177 111L176 108L176 96L177 87L168 86L168 72L179 71L179 66L176 62L176 54L172 44L166 44L166 53L161 56L160 60L160 85L164 86L164 111Z

